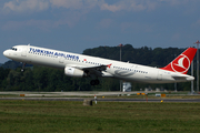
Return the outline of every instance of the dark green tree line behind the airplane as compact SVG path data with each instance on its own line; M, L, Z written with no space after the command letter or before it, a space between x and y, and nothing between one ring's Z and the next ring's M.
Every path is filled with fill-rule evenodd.
M183 49L178 48L156 48L148 47L133 48L126 44L122 48L122 61L139 63L151 66L164 66L179 55ZM118 47L99 47L87 49L83 54L119 60ZM196 59L194 59L196 60ZM194 61L196 62L196 61ZM38 65L27 65L21 72L21 63L8 61L0 66L0 91L119 91L120 83L117 79L100 78L100 84L90 85L89 78L70 78L64 75L63 70L44 68ZM194 83L196 84L196 83ZM178 91L190 91L190 82L178 83ZM174 90L174 84L143 84L132 83L132 91L144 88L163 88Z

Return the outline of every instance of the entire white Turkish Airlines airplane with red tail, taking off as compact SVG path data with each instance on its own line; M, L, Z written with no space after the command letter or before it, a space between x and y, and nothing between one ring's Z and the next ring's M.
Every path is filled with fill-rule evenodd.
M3 54L23 63L63 69L64 74L69 76L91 78L91 85L98 85L98 78L116 78L144 83L192 81L194 78L187 72L196 52L197 49L188 48L161 69L32 45L16 45L6 50Z

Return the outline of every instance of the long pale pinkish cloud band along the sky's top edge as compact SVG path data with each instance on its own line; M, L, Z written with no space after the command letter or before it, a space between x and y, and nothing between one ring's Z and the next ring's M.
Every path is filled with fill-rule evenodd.
M109 4L104 0L10 0L4 2L2 10L12 12L39 12L51 8L64 8L70 10L91 10L100 8L111 12L117 11L142 11L154 9L156 2L151 0L117 0Z

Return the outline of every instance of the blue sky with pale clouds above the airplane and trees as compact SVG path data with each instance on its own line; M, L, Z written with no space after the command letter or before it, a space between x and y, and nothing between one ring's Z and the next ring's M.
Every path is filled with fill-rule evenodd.
M197 40L200 0L0 0L0 63L17 44L82 53L119 43L188 48Z

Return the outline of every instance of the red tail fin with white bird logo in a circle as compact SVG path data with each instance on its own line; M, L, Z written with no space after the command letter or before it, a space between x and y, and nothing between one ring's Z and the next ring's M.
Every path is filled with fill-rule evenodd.
M178 58L176 58L171 63L167 66L162 68L163 70L179 72L182 74L187 74L190 64L196 55L197 49L188 48L184 52L182 52Z

